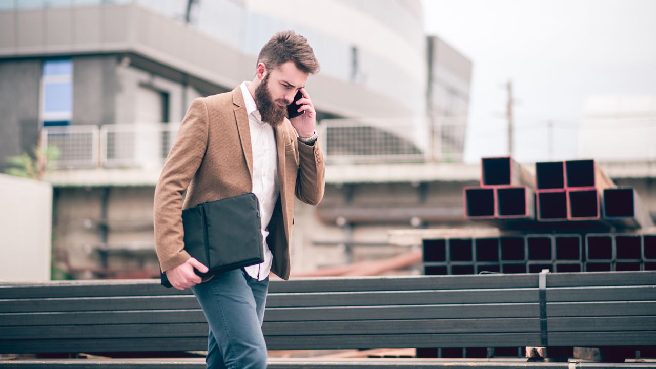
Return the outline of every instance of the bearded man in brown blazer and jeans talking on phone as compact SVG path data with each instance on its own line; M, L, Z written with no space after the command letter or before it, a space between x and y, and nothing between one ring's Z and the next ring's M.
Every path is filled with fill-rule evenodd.
M316 111L304 89L318 70L305 37L276 33L260 51L253 81L192 102L155 188L157 257L173 287L191 288L203 308L207 368L266 368L268 274L289 279L294 196L312 205L323 197ZM290 121L287 105L299 90L304 114ZM260 202L264 262L201 280L194 268L207 267L183 250L182 209L246 192Z

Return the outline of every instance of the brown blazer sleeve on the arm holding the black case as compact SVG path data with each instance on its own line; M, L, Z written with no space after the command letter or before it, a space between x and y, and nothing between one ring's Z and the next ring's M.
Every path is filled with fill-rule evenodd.
M192 102L171 147L155 186L155 249L161 271L187 261L182 228L182 194L203 162L208 137L207 105L203 98Z

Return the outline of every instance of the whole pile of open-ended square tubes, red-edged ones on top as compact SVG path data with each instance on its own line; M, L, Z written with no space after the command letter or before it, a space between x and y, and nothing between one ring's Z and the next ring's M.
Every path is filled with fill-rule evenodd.
M594 160L536 163L535 177L510 157L481 164L480 186L464 188L464 216L501 223L502 235L424 240L425 274L656 269L651 215Z

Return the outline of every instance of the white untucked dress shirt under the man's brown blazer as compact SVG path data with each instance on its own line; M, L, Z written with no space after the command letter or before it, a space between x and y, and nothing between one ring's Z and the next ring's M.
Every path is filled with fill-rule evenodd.
M262 247L264 248L264 262L245 267L249 276L256 280L264 280L271 271L274 256L266 244L266 236L269 231L266 226L274 213L274 206L280 193L278 184L278 154L274 128L262 121L262 116L257 110L255 100L248 90L249 81L241 83L241 95L243 95L248 114L249 127L251 129L251 146L253 147L253 193L260 202L260 215L262 218Z

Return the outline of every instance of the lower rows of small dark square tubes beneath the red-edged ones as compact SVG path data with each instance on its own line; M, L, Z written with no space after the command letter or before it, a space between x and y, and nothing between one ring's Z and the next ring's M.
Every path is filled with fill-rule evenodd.
M423 248L427 275L656 271L656 232L433 238Z

